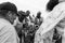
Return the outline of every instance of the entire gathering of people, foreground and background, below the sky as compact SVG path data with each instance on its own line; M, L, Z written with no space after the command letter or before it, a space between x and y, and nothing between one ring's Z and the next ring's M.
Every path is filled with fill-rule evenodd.
M65 2L50 0L46 19L39 11L17 11L14 3L0 3L0 43L65 43Z

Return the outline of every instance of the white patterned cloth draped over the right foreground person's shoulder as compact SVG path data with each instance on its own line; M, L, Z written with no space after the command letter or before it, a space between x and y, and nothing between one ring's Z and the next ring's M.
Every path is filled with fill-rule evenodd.
M43 43L43 39L50 35L51 35L50 38L52 38L51 31L53 31L54 26L56 26L56 24L64 17L65 17L65 2L61 2L53 9L53 11L49 14L49 16L44 19L43 24L37 30L35 35L35 43L41 42Z

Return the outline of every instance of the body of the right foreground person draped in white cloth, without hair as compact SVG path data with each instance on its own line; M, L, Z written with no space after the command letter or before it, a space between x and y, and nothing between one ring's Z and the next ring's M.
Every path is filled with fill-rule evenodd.
M53 1L53 0L51 0ZM55 0L53 3L57 2L54 4L52 8L51 12L49 13L48 17L44 19L40 28L37 30L36 35L35 35L35 43L65 43L65 2ZM50 3L50 8L53 5ZM64 22L62 22L64 20ZM62 22L62 23L60 23ZM57 25L61 25L60 27ZM63 28L62 28L63 27ZM57 33L62 37L58 37L62 40L58 40L56 42L52 42L53 33L54 33L54 28L56 28Z

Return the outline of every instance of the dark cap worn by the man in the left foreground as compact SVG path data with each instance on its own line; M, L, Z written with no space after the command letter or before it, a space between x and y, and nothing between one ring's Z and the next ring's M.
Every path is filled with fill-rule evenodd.
M14 3L11 2L2 2L0 4L0 10L12 11L17 14L17 8Z

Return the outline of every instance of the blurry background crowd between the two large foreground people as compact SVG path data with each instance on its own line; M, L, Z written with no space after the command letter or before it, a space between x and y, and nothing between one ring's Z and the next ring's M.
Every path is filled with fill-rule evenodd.
M22 43L34 43L35 33L39 29L40 25L43 23L41 17L41 12L37 13L37 16L30 15L30 11L18 11L20 23L16 23L17 34ZM16 22L17 22L16 20Z

